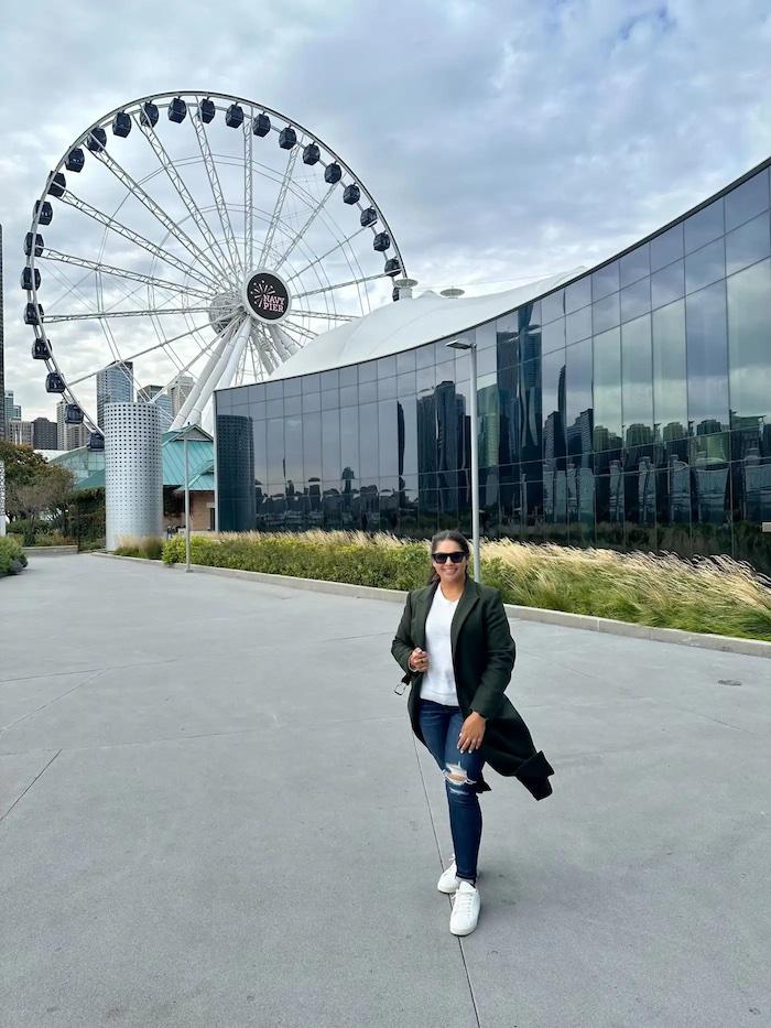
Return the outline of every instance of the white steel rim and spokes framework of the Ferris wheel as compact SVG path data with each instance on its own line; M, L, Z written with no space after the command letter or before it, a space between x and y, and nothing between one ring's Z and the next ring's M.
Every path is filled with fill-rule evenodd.
M170 158L165 148L163 147L160 137L156 134L155 125L143 123L142 112L144 111L145 105L154 105L159 109L160 120L161 111L164 109L167 110L173 101L177 98L183 99L186 104L185 120L189 120L194 127L200 156L177 160L175 162L172 160L172 158ZM241 161L240 159L232 155L224 156L221 154L213 153L206 133L206 123L199 117L200 102L205 99L214 101L215 117L218 113L221 115L222 112L227 111L228 108L230 108L232 105L238 105L243 112L242 123L236 129L237 131L241 131L243 136L242 251L239 248L238 241L236 239L232 221L230 219L230 212L228 209L228 204L226 203L219 181L217 158L220 159L220 166L222 163L240 164ZM97 151L91 151L88 148L89 141L100 143L98 137L94 134L95 131L97 129L102 129L105 132L107 132L111 128L116 116L121 113L126 113L131 118L131 130L133 131L135 128L141 132L141 134L145 137L155 154L155 158L158 159L159 166L141 180L133 178L129 172L127 172L121 166L112 153L108 152L107 144L100 144L100 149ZM267 212L260 212L259 208L254 207L254 169L262 169L264 176L269 178L272 177L274 182L279 181L278 176L280 175L280 172L276 172L275 169L265 167L259 162L256 162L253 159L253 144L256 134L253 131L253 125L256 117L259 115L267 115L269 118L271 118L270 132L281 132L285 129L292 129L297 137L294 145L287 151L286 167L284 169L283 176L279 182L279 195L273 206L273 210L269 214L268 217L265 217ZM276 125L272 119L278 119L280 125ZM302 148L307 143L315 143L315 145L318 147L319 158L316 163L319 167L319 171L326 167L328 164L336 163L339 165L343 172L337 182L329 184L329 188L326 190L321 199L308 193L298 182L292 181L292 174L297 156L301 153ZM89 205L86 201L78 197L72 191L69 185L65 186L64 193L59 196L56 196L55 193L52 194L51 190L52 186L55 186L56 175L64 173L66 170L65 165L69 160L70 153L77 148L87 148L86 152L88 155L95 160L99 160L102 164L105 164L106 167L112 173L112 175L124 186L127 191L126 195L112 215L105 214L98 208ZM180 166L193 162L198 164L203 162L211 190L214 203L203 208L193 198L183 176L178 171ZM144 190L144 183L152 180L156 175L163 174L164 172L167 178L171 181L180 198L182 199L184 206L188 210L188 216L181 221L170 217L163 209L162 205L154 201L150 193ZM335 191L338 188L344 191L347 185L356 185L360 191L359 198L350 206L355 209L358 208L360 212L365 210L367 207L372 207L377 214L377 219L373 220L370 225L359 225L356 231L347 236L344 235L341 240L336 239L332 249L321 256L310 251L305 255L304 264L300 272L294 272L289 275L285 274L286 270L291 270L292 267L291 264L287 264L290 257L295 252L295 250L300 250L302 252L304 237L311 225L319 216L324 215L324 208ZM290 192L294 193L295 196L298 196L303 199L304 203L308 204L310 214L300 229L291 231L289 245L283 245L283 249L279 253L278 261L275 263L271 263L268 258L271 252L275 251L274 242L276 230L279 229L280 225L283 224L281 215L284 201L287 193ZM43 246L40 255L35 253L40 229L45 229L46 227L40 225L40 216L43 204L47 201L48 196L54 196L54 198L63 201L64 203L75 207L86 216L90 217L93 220L104 226L102 242L100 251L97 255L97 260L63 253L46 246ZM140 232L134 231L118 220L116 215L120 212L120 208L129 196L137 198L153 215L155 220L166 229L166 235L161 239L160 242L153 242L151 239L143 237ZM230 206L232 207L234 205L231 204ZM221 237L211 231L211 227L208 220L206 217L204 217L204 213L209 213L211 210L217 212L219 227L222 230ZM262 247L259 253L256 252L254 248L256 212L259 212L260 218L262 220L268 221L268 229L265 231L265 237L262 241ZM191 238L186 228L183 227L184 221L187 221L188 218L192 219L200 236L204 237L204 240L206 241L205 246L202 246L200 242L196 242L193 238ZM336 223L334 223L334 226L335 230L339 228ZM387 256L394 257L397 259L398 271L387 272L383 270L376 274L363 274L358 257L352 250L350 242L356 236L367 231L368 229L371 230L373 236L380 231L388 234L390 238L390 246L388 249L390 252ZM138 246L149 252L153 258L150 266L151 271L154 270L155 263L161 261L173 268L176 268L177 271L185 275L184 281L173 282L171 280L158 278L154 274L132 271L130 269L121 269L105 263L102 261L105 246L108 235L111 231L123 236L134 246ZM334 237L333 230L329 229L329 231ZM305 324L301 325L291 321L285 325L282 324L281 321L276 322L275 324L269 324L257 322L257 320L252 318L248 313L243 313L243 316L229 320L227 325L215 335L214 339L209 339L208 343L202 344L199 334L209 331L211 325L210 323L193 325L191 318L193 314L206 313L207 315L210 315L213 301L215 299L219 299L220 295L222 295L224 283L221 274L224 269L227 270L228 274L226 284L231 286L234 307L237 306L236 295L240 295L240 283L245 273L248 272L251 274L256 268L264 267L265 270L269 270L271 273L280 273L283 281L287 284L291 283L294 279L297 279L298 275L305 274L306 272L313 270L318 280L318 288L306 290L304 293L298 294L293 299L307 299L314 295L319 296L323 303L326 304L326 311L301 310L298 314L306 318L326 320L327 322L332 323L341 323L344 321L351 320L350 315L344 315L337 312L334 303L335 290L357 286L363 312L363 302L361 302L360 289L362 284L366 288L367 282L388 278L393 279L395 274L406 274L406 268L404 267L404 261L402 259L399 244L397 242L388 219L380 209L380 206L374 201L371 192L366 187L361 177L355 174L350 166L343 160L343 158L340 158L340 155L335 150L333 150L332 147L322 140L317 133L312 132L305 126L301 125L293 118L286 117L286 115L282 113L281 111L274 110L273 108L270 108L265 105L258 104L254 100L249 100L245 97L232 96L231 94L210 93L205 90L182 89L143 96L131 100L128 104L116 107L113 110L94 121L84 132L82 132L76 137L75 140L73 140L55 167L50 172L46 178L45 187L33 208L30 234L31 246L30 253L26 257L25 267L30 269L29 278L31 288L26 290L26 293L28 305L32 304L35 312L37 313L36 323L33 323L31 326L34 332L35 343L42 340L45 344L47 356L44 358L44 360L47 375L51 375L52 372L57 374L64 383L64 391L57 394L59 394L63 400L66 400L67 403L73 404L78 409L83 422L95 435L101 435L101 429L99 428L96 419L78 400L77 394L74 391L74 387L89 378L95 377L97 371L82 375L80 377L68 381L65 378L64 371L62 370L56 359L54 347L48 339L46 332L47 324L66 323L79 320L98 321L115 359L119 361L128 361L137 359L138 357L144 356L156 349L164 349L171 356L172 362L177 365L177 371L175 372L175 376L188 372L193 365L208 355L208 360L206 361L204 370L198 374L197 380L193 387L193 391L188 396L187 400L180 410L180 413L172 423L173 429L180 429L184 424L191 422L197 421L199 423L203 409L211 399L214 390L222 383L229 385L234 377L237 375L240 365L242 365L242 367L246 369L248 344L254 332L259 334L261 343L264 347L264 350L260 351L260 356L263 368L267 367L269 372L270 370L273 370L275 367L278 367L289 356L291 356L292 353L301 348L305 342L314 338L316 335L316 333L308 329L307 325ZM284 235L285 234L286 232L284 227ZM176 239L176 241L182 245L185 250L185 258L178 257L177 255L164 248L164 245L170 237L174 237L174 239ZM352 262L351 257L346 252L346 247L348 247L348 250L350 250L350 253L352 255ZM336 250L341 250L346 257L348 266L351 269L352 278L348 281L337 282L334 284L330 283L327 279L325 284L322 278L322 273L325 274L323 262ZM215 260L215 256L217 260ZM310 262L307 262L308 257L312 258ZM85 269L88 273L94 272L98 310L89 314L45 315L43 313L41 316L42 309L37 297L37 284L35 281L36 258L64 264L73 264ZM193 263L191 263L191 261ZM219 263L217 263L217 261L219 261ZM357 266L359 272L358 275L354 272L354 263ZM150 295L152 295L153 299L155 289L163 290L165 293L178 293L181 300L177 301L177 303L180 305L167 306L169 299L166 299L163 303L159 303L154 307L148 306L144 310L113 311L104 309L101 300L102 275L111 275L113 278L117 277L120 278L123 282L137 282L139 283L138 289L144 285L148 288ZM232 278L230 278L230 275L232 275ZM77 293L78 286L79 282L73 285L68 292ZM134 290L133 293L127 293L127 296L130 299L135 292L137 290ZM329 310L329 295L327 294L332 295L332 310ZM188 300L189 302L185 304L185 300ZM368 296L367 302L369 302ZM172 338L166 338L165 335L162 334L158 323L158 318L166 314L183 315L188 326L188 331L181 333ZM115 336L110 326L110 322L112 320L120 317L149 318L158 336L158 343L153 346L145 347L138 354L122 356L120 354L120 348L115 340ZM184 361L174 353L172 344L189 336L194 336L196 338L199 345L199 350L192 360L189 360L187 364L184 364ZM256 380L260 380L262 376L258 372L253 350L251 351L251 357ZM166 390L170 386L171 382L167 383ZM152 402L152 400L150 402Z

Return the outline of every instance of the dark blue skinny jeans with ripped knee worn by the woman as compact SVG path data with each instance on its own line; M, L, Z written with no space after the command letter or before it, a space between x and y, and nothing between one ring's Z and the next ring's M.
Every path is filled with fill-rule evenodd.
M465 754L458 749L464 723L459 707L420 700L419 719L428 750L445 776L457 876L474 883L481 842L481 808L471 786L479 779L485 760L478 749Z

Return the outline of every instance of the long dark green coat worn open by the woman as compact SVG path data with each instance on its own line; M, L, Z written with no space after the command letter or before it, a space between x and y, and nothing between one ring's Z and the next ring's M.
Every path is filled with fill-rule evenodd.
M417 701L423 673L411 671L409 659L416 646L425 649L425 623L438 582L408 594L404 613L391 652L411 682L408 700L412 731L425 746L419 723ZM514 776L536 800L551 796L549 776L554 769L536 751L528 726L504 695L514 667L515 647L498 589L466 581L450 628L453 667L458 704L464 717L476 711L487 718L480 754L499 775ZM478 792L489 791L482 779Z

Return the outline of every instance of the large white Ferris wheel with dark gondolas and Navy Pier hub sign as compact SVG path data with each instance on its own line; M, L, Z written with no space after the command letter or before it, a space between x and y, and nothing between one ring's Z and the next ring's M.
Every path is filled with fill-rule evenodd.
M317 335L398 299L386 217L318 136L253 100L170 93L89 126L50 173L24 240L24 322L45 388L101 448L99 372L171 428L260 381ZM176 398L183 396L177 390Z

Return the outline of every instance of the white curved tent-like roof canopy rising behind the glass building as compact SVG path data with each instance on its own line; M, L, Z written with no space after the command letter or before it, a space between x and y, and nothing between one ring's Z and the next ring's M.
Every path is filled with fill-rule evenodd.
M271 379L341 368L459 335L557 289L584 270L577 268L487 296L450 300L425 292L414 300L402 297L317 336L276 368Z

